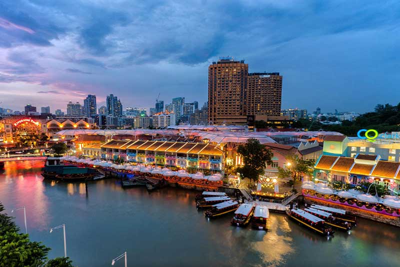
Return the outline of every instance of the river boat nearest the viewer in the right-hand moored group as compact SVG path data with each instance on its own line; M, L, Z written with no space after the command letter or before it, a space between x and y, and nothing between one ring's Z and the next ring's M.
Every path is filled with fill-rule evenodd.
M302 209L293 208L286 210L287 216L295 220L301 225L304 225L310 230L315 231L321 235L333 235L333 230L329 226L325 225L325 221L317 216L314 216Z

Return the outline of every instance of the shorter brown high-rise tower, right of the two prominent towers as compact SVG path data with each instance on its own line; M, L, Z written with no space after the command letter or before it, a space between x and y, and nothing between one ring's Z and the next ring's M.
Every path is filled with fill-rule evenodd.
M249 73L247 115L280 116L282 76L278 72Z

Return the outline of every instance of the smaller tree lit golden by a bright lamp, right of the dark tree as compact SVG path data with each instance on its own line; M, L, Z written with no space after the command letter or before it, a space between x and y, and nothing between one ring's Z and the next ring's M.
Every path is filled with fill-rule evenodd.
M300 180L303 176L312 176L312 168L314 166L314 161L311 159L302 159L295 154L290 154L286 158L286 168L278 167L278 177L293 178L295 180Z

